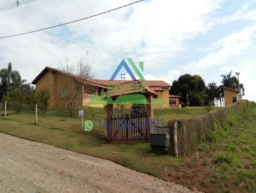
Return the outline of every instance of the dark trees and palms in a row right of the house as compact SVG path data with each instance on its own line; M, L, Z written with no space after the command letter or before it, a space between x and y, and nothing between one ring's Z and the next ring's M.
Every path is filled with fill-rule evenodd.
M178 80L173 81L170 94L180 95L180 102L191 106L223 104L223 87L239 89L241 96L244 96L244 86L239 83L232 71L221 75L221 85L211 82L205 85L204 80L199 75L184 74Z

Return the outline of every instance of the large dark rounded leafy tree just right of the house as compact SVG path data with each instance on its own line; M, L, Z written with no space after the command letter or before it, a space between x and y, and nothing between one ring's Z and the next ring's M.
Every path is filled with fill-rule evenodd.
M180 75L177 81L173 81L170 94L180 95L180 102L187 104L187 94L190 105L204 105L205 82L199 75L184 74Z

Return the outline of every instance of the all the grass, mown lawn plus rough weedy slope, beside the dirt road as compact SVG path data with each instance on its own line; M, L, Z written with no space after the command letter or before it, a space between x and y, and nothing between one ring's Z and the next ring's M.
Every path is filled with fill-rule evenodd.
M179 120L216 109L156 109L154 116L166 121ZM92 120L92 111L102 109L86 108L85 120ZM94 118L104 119L105 116L105 112L98 112ZM0 119L0 132L107 158L203 192L256 192L256 108L228 117L220 128L210 132L207 141L198 146L198 159L152 154L148 143L109 144L104 139L104 130L97 129L83 135L80 133L80 119L77 116L70 118L67 109L49 111L45 116L39 114L38 125L34 123L33 112L15 114L10 111L8 120Z

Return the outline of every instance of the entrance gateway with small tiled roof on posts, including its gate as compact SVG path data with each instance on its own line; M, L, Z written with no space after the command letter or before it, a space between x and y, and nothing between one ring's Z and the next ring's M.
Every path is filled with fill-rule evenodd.
M108 128L107 128L107 138L109 142L115 142L115 135L113 135L113 131L120 131L121 128L116 128L116 125L112 124L113 123L113 105L115 104L115 100L116 98L118 98L118 96L125 96L126 98L128 98L126 101L123 102L123 104L134 104L134 102L136 104L140 104L140 102L138 102L138 98L137 96L139 96L138 94L140 94L140 96L143 96L144 99L147 99L145 104L146 106L146 118L143 120L138 120L139 118L132 118L135 122L137 120L138 122L138 132L137 134L133 134L133 131L128 130L128 127L125 126L125 132L120 132L122 134L121 137L119 137L120 139L118 139L118 141L120 141L119 143L134 143L134 142L140 142L139 139L142 139L142 135L144 135L143 137L143 141L147 142L149 141L149 137L150 137L150 119L154 118L154 111L152 108L152 102L154 100L154 98L157 98L157 93L152 90L151 88L149 88L144 82L141 81L131 81L131 82L125 82L122 84L115 84L113 86L111 86L111 88L108 89L108 91L106 91L105 93L105 97L107 98L107 119L108 119ZM108 98L110 100L108 100ZM109 101L113 101L113 102L109 102ZM119 118L119 116L118 116ZM121 118L121 116L120 116ZM122 115L122 118L126 118L125 116ZM145 123L145 121L147 121ZM145 127L147 127L147 130L143 133L140 132L140 129L142 131L142 125L145 125ZM121 126L123 127L123 126ZM123 128L122 128L123 129ZM129 133L131 132L131 134ZM135 132L136 133L136 132ZM147 135L147 136L146 136ZM125 139L123 139L125 137Z

